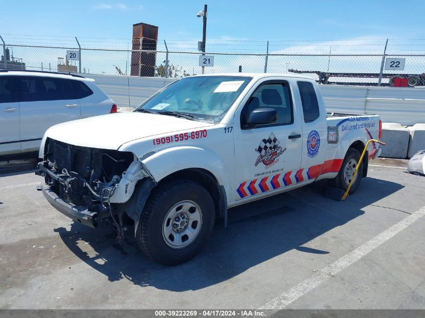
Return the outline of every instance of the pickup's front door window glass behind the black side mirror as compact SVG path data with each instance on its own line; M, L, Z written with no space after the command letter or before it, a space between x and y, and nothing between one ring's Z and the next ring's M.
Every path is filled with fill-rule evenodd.
M267 107L277 111L278 120L271 126L289 125L293 123L293 111L289 84L266 83L259 86L249 97L241 112L241 127L245 126L249 114L258 108ZM262 126L263 127L263 126Z

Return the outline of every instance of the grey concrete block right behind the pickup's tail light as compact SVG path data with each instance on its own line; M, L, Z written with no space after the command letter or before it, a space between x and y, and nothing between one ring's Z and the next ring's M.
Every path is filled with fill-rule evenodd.
M382 149L380 157L406 158L409 148L410 132L400 124L382 123L381 140L386 143L380 146Z

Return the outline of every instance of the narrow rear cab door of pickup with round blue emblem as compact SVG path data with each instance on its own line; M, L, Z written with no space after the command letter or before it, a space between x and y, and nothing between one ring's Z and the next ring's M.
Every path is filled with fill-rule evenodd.
M310 81L297 80L294 89L294 92L298 91L298 104L302 106L302 144L305 146L302 147L301 167L306 170L309 180L314 180L322 172L327 148L326 112L320 90L315 86Z

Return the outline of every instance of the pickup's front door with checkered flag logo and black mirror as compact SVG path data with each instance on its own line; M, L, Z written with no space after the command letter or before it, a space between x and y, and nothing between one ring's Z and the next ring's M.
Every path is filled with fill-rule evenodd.
M302 127L289 82L263 80L248 95L234 119L234 195L247 201L303 181L299 173ZM249 114L259 108L275 109L277 121L250 126Z

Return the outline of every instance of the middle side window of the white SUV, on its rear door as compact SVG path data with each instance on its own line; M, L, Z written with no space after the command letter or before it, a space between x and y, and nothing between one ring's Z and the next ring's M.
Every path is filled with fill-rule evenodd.
M22 101L65 99L62 82L58 78L25 76L20 78Z

